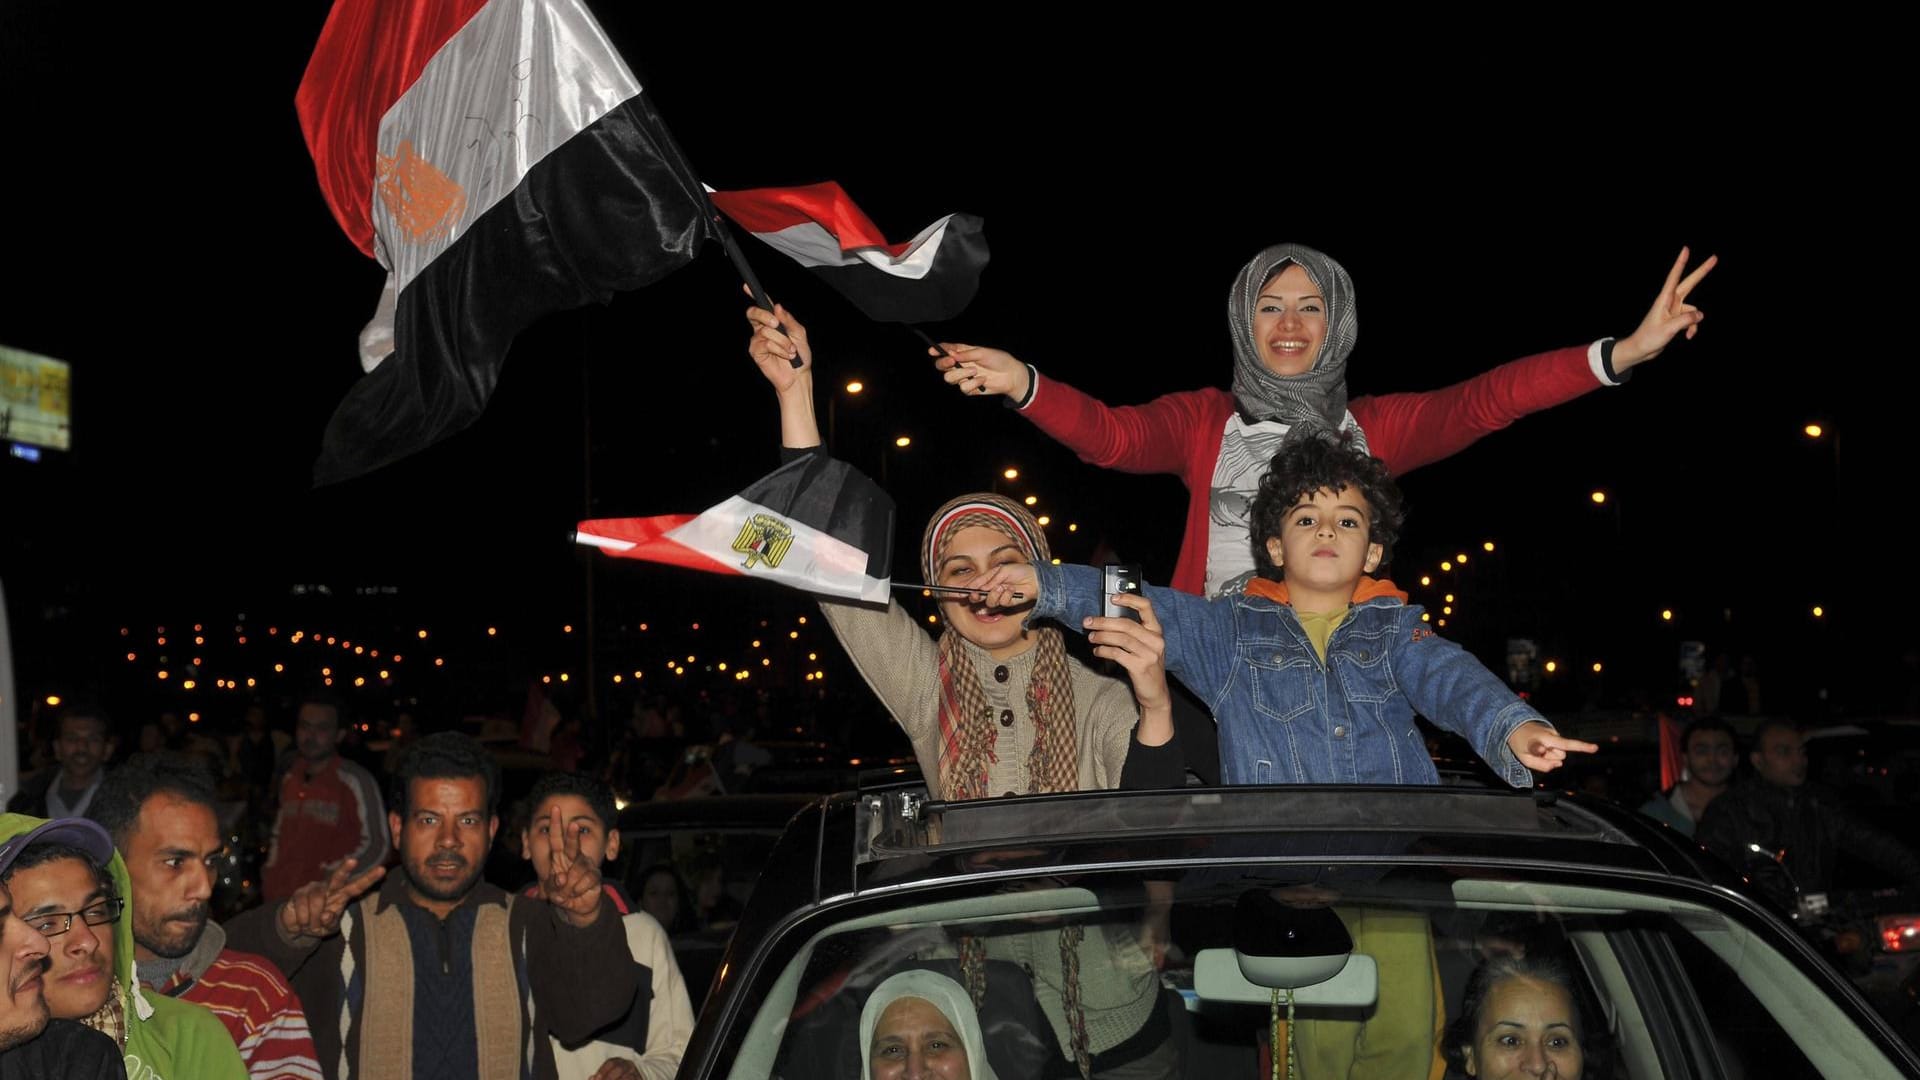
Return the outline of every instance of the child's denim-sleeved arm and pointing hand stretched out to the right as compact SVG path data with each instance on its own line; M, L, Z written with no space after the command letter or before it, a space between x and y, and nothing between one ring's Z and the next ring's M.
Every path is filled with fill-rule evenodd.
M1394 680L1423 717L1467 738L1515 788L1534 784L1528 769L1551 773L1567 753L1594 753L1592 742L1565 738L1532 705L1523 701L1473 653L1419 623L1407 607L1409 628L1392 651Z

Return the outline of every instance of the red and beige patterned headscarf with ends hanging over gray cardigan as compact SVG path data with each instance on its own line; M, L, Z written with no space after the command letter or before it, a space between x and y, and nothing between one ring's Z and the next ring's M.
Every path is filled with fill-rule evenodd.
M1046 534L1033 515L1014 500L987 492L960 496L927 523L920 540L920 580L933 584L941 559L948 555L952 536L975 525L993 528L1014 540L1029 563L1052 559ZM1071 792L1079 788L1079 753L1073 719L1073 676L1068 671L1068 650L1054 626L1027 630L1033 634L1033 676L1027 680L1027 717L1033 719L1033 749L1027 755L1029 794ZM941 798L987 798L987 765L996 761L993 744L998 724L968 644L948 625L941 632Z

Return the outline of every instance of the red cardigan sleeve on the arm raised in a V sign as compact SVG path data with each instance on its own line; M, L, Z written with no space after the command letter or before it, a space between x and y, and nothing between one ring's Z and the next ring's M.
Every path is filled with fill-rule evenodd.
M1442 390L1356 398L1348 407L1367 432L1369 452L1398 477L1597 386L1588 348L1574 346L1501 363Z

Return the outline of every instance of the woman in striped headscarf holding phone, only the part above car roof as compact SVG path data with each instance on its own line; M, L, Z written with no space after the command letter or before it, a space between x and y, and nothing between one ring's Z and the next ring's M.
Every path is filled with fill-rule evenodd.
M783 307L751 307L747 319L749 354L780 398L783 452L810 454L820 427L806 329ZM920 544L929 584L966 584L1006 561L1050 557L1033 515L989 492L943 505ZM1110 619L1089 634L1096 655L1127 669L1131 688L1069 657L1058 628L1025 626L1020 609L941 600L935 642L899 603L822 600L820 607L912 740L937 799L1117 788L1129 753L1140 759L1129 786L1179 784L1160 623L1144 601L1140 623Z

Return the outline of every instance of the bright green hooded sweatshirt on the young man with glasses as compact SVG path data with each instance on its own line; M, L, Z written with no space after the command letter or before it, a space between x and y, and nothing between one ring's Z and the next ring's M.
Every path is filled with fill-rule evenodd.
M0 815L0 844L31 832L46 819L23 813ZM113 890L127 901L113 924L113 972L119 976L121 1007L127 1011L127 1080L248 1080L246 1063L227 1026L192 1001L146 994L132 965L132 882L119 851L108 863Z

